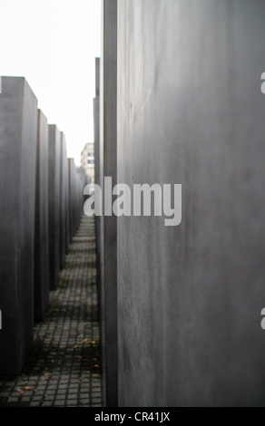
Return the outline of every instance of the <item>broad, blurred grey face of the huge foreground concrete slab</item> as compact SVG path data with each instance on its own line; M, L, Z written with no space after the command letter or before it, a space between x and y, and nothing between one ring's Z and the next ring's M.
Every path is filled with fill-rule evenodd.
M118 180L183 189L118 220L119 404L264 406L265 3L118 9Z

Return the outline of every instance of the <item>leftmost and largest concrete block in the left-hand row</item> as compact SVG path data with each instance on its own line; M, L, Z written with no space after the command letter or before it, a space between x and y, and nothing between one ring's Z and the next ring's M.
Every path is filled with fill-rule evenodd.
M34 328L37 101L24 78L0 94L0 373L19 374Z

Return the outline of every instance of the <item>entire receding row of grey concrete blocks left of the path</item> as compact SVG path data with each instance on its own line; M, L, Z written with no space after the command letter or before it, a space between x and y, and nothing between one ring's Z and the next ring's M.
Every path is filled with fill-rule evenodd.
M64 266L87 183L67 159L64 133L48 125L20 77L2 78L0 173L0 374L18 374Z

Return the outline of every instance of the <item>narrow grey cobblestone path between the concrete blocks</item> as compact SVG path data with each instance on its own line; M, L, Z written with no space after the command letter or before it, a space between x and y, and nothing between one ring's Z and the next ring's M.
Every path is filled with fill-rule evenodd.
M23 373L0 378L0 406L100 407L95 233L83 216Z

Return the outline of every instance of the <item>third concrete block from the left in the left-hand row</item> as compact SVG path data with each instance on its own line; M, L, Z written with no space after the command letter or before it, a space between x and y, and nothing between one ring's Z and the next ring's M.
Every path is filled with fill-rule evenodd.
M61 134L49 125L49 249L50 289L57 286L60 268L60 165Z

